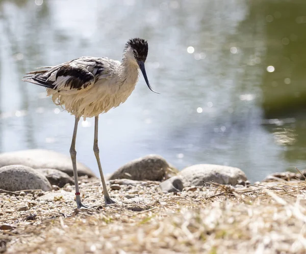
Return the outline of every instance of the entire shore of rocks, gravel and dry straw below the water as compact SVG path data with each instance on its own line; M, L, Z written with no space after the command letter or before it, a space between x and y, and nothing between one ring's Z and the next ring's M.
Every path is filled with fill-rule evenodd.
M38 153L40 156L36 156ZM303 253L304 172L250 184L235 167L198 164L178 172L148 155L109 176L116 204L80 166L76 209L69 157L47 150L0 154L3 253Z

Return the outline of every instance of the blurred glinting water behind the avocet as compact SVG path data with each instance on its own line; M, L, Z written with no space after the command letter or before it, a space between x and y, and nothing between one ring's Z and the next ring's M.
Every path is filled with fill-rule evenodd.
M121 60L148 40L129 99L100 117L105 173L146 154L182 169L240 167L251 181L306 162L305 0L0 0L0 152L69 155L73 116L25 72L82 56ZM94 119L81 121L78 160L98 173Z

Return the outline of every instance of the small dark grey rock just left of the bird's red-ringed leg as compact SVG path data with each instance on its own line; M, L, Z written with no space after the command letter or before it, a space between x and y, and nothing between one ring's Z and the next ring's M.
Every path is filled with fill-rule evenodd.
M37 171L44 175L51 185L57 185L59 187L64 187L67 183L73 185L74 181L68 174L56 170L55 168L38 168Z

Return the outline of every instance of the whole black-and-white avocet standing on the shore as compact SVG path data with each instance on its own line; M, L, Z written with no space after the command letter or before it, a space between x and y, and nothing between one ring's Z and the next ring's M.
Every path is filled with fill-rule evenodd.
M47 95L52 96L53 102L75 116L70 155L78 208L88 208L81 202L78 183L75 138L79 120L81 117L84 120L87 117L95 118L93 151L103 185L105 205L113 204L115 202L107 191L99 158L99 114L126 101L138 80L138 68L148 88L155 92L150 87L144 68L147 54L147 41L134 38L126 42L121 62L108 58L82 57L53 67L40 67L38 68L40 70L32 71L24 76L23 81L47 88Z

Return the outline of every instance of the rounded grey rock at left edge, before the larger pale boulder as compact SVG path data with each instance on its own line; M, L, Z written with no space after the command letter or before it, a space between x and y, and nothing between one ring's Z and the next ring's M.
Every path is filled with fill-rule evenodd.
M50 190L52 187L45 176L23 165L9 165L0 168L0 189L18 191L27 189Z

